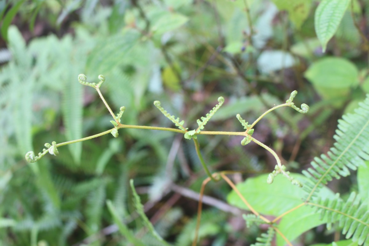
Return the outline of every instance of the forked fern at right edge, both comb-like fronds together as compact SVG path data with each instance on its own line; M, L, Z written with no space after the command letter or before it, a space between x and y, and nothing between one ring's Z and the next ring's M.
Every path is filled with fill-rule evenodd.
M305 202L317 207L321 218L327 216L327 227L339 221L346 239L352 237L359 245L369 245L368 204L362 203L355 193L351 193L346 202L339 198L321 200L317 191L333 178L348 176L349 169L356 170L369 160L369 94L354 114L346 114L338 121L334 147L326 155L315 157L312 168L303 171L311 182L304 183L307 191Z

